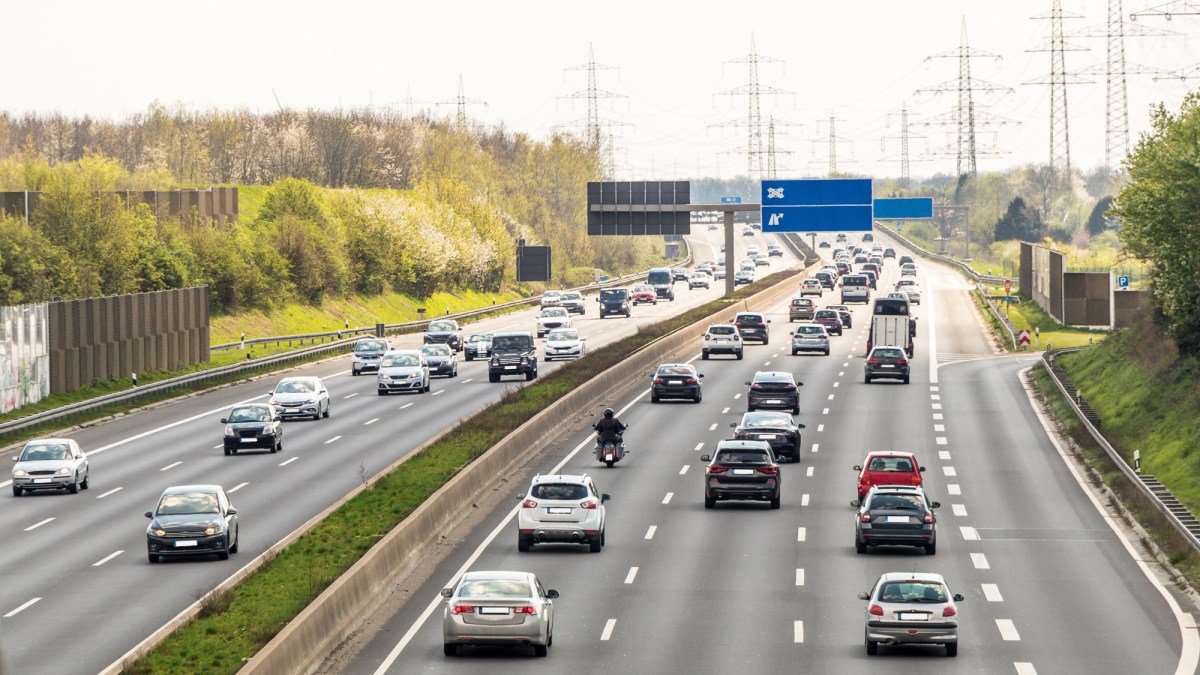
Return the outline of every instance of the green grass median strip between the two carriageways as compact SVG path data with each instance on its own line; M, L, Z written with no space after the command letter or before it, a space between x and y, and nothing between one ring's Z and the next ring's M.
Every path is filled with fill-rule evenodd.
M142 658L132 674L235 673L338 575L418 506L496 442L550 404L630 353L679 328L731 309L785 281L781 271L757 283L589 352L528 387L512 390L410 456L403 471L382 477L226 593L206 597L200 613ZM619 321L619 319L613 319ZM269 516L270 514L263 514Z

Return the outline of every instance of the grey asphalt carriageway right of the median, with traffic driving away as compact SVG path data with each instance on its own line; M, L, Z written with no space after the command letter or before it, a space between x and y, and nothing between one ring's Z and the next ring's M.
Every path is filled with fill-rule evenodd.
M865 306L828 357L790 356L782 305L751 307L769 311L769 346L748 347L743 362L702 362L698 344L682 356L706 375L702 404L650 404L643 388L614 401L631 425L624 462L599 465L580 430L508 477L515 496L534 472L590 473L612 495L602 552L517 552L517 501L498 500L427 579L401 585L410 599L364 622L322 673L1194 673L1195 608L1163 586L1060 455L1020 380L1036 357L995 353L967 283L918 264L911 384L863 383ZM896 275L889 262L880 291ZM743 382L762 369L804 382L803 459L782 467L781 509L707 510L700 455L728 436L745 411ZM942 503L935 556L854 552L851 467L870 449L911 450L926 467ZM548 658L443 655L438 591L467 569L534 572L562 593ZM894 571L943 574L966 596L956 658L940 647L866 655L857 595Z

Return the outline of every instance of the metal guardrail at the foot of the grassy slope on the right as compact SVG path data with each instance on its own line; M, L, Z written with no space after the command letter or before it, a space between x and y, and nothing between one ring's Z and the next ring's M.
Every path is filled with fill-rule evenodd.
M1153 476L1145 476L1141 472L1134 470L1126 462L1126 459L1121 456L1121 453L1109 443L1108 438L1100 434L1100 418L1096 414L1087 401L1084 400L1079 389L1072 384L1070 378L1063 371L1062 366L1058 365L1057 358L1060 354L1067 354L1072 352L1079 352L1086 347L1072 347L1066 350L1049 350L1042 354L1042 364L1045 366L1046 372L1054 378L1055 384L1058 386L1058 390L1070 404L1072 410L1079 416L1080 420L1084 422L1084 428L1091 434L1092 440L1096 441L1109 459L1121 470L1138 491L1141 492L1158 510L1163 518L1166 519L1171 526L1178 531L1180 536L1183 537L1193 550L1200 551L1200 520L1196 519L1192 512L1187 509L1180 501L1172 495L1162 483Z

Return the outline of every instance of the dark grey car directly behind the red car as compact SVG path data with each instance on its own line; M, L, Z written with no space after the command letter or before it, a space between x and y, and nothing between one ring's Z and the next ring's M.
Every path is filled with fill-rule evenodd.
M942 506L931 501L922 488L911 485L875 485L862 501L850 506L854 514L854 552L865 554L874 546L918 546L925 555L937 552L937 515Z

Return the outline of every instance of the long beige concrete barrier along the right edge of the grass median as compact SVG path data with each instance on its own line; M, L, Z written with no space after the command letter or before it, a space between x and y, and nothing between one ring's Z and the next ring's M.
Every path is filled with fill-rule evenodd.
M796 269L796 268L792 268ZM503 438L491 450L468 465L450 482L418 507L408 518L342 574L320 596L301 611L240 670L244 674L294 675L312 673L348 632L370 613L378 609L386 597L386 589L412 571L416 551L437 540L442 532L458 521L470 508L475 495L494 488L496 477L510 472L529 454L529 448L541 447L562 432L563 420L584 414L605 396L625 388L668 357L686 348L697 348L700 331L714 317L742 309L762 309L774 305L797 292L793 276L754 294L740 307L721 310L660 340L646 345L629 358L589 380ZM484 411L480 414L486 414ZM446 430L449 431L449 430ZM445 434L444 431L443 434ZM409 453L390 472L440 438ZM380 476L383 474L380 473ZM356 492L355 492L356 494ZM348 501L350 496L336 506ZM326 509L331 512L335 507ZM322 515L324 516L324 514Z

